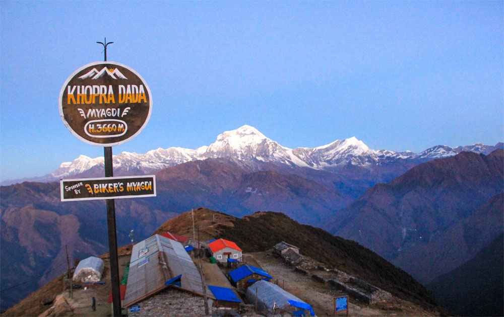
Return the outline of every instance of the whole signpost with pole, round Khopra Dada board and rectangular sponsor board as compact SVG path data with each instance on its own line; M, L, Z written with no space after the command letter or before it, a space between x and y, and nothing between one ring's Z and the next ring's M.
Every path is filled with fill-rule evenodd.
M59 94L59 113L81 141L104 146L105 179L62 180L61 201L106 199L113 315L118 317L121 298L114 198L156 196L156 179L153 175L114 178L112 146L142 131L151 115L152 96L134 69L107 61L107 46L113 42L105 38L96 43L103 45L104 61L84 65L67 78Z

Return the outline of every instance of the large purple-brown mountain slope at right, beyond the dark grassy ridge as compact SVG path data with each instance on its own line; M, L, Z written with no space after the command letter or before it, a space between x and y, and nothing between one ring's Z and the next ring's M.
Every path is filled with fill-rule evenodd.
M502 232L503 166L504 150L421 164L369 189L327 227L428 282Z

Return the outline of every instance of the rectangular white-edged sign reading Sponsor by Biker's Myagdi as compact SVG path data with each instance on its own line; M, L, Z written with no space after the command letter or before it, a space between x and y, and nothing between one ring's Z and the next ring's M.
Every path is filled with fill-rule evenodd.
M156 196L156 176L121 176L60 180L61 201Z

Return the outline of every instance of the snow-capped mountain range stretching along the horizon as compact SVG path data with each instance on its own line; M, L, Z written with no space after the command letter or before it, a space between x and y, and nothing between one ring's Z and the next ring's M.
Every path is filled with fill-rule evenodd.
M336 140L318 147L298 147L291 149L266 137L249 125L236 130L225 131L217 136L214 143L197 149L182 147L158 148L147 153L121 152L113 156L114 175L138 175L155 173L167 167L181 163L208 158L232 159L256 170L265 169L266 165L277 168L309 168L318 171L347 171L355 178L365 174L366 180L373 182L390 181L409 168L432 159L453 156L461 151L473 151L488 154L497 148L504 148L499 142L494 146L474 144L455 148L436 145L420 153L395 152L391 150L373 150L364 142L351 137ZM358 172L356 173L356 170ZM61 163L54 172L33 178L4 181L10 185L22 181L51 182L69 177L103 176L103 157L94 159L80 155L72 162ZM360 178L360 177L358 177ZM359 192L360 194L360 192Z

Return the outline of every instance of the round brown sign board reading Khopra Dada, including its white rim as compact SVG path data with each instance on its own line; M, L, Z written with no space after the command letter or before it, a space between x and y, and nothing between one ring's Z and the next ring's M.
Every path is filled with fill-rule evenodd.
M137 136L151 110L151 91L142 76L112 61L77 69L59 93L63 123L80 140L93 145L118 145Z

